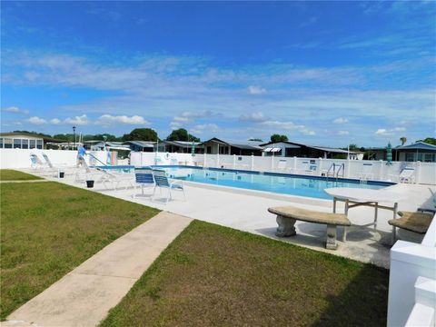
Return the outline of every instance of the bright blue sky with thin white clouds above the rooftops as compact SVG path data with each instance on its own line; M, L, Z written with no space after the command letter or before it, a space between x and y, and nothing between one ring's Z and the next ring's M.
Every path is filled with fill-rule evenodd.
M435 135L436 2L2 2L1 130Z

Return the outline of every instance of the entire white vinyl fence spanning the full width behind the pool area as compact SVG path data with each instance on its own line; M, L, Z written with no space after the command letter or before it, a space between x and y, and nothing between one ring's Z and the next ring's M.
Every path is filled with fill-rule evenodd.
M76 151L61 150L38 150L38 149L0 149L1 168L30 168L30 154L36 154L42 158L42 154L48 155L52 163L74 165ZM87 152L93 154L100 162L107 163L108 153L104 151ZM90 156L86 156L89 161ZM121 164L122 162L120 162ZM253 155L228 155L228 154L169 154L169 153L144 153L132 152L130 164L134 166L146 166L153 164L182 164L199 165L203 167L216 167L239 169L259 172L276 173L299 173L321 176L326 174L332 167L343 164L344 178L359 179L364 170L370 180L396 181L401 170L408 166L415 168L414 180L416 183L436 184L436 163L404 163L392 162L391 165L383 161L363 160L335 160L322 158L297 158L297 157L272 157ZM91 159L90 164L99 165L98 161ZM123 163L125 164L125 163Z

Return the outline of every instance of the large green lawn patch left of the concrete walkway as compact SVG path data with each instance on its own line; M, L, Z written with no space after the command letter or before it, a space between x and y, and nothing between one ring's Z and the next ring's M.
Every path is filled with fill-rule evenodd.
M2 320L158 213L62 183L1 185Z

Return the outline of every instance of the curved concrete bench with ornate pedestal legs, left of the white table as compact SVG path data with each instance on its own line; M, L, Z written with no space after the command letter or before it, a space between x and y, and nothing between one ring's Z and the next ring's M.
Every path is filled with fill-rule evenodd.
M277 223L279 226L275 234L280 237L295 235L296 221L326 224L327 242L325 247L330 250L336 250L338 247L338 243L336 243L337 226L352 225L347 216L342 213L320 213L292 206L268 208L268 211L277 215ZM344 233L346 233L345 230Z

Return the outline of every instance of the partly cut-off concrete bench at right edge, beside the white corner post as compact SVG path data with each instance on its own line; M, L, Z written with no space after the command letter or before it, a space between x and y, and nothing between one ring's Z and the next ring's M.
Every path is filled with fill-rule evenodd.
M433 214L431 213L399 212L398 215L401 218L388 221L392 226L392 243L395 242L395 227L413 233L425 234L433 220ZM420 238L417 239L420 240Z

